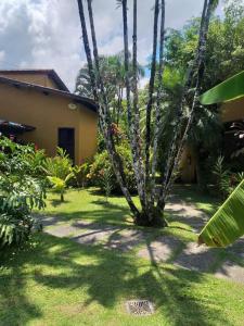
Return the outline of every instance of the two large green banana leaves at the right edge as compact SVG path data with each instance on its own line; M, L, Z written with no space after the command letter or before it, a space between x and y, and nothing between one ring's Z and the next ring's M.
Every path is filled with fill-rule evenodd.
M216 104L244 97L244 71L215 86L200 97L202 104ZM227 247L244 235L244 179L209 220L198 243Z

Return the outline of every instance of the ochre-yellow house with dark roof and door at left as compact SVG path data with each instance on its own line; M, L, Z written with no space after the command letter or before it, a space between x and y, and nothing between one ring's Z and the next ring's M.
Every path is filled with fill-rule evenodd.
M0 131L48 155L64 148L76 164L97 150L95 103L70 93L53 70L0 71Z

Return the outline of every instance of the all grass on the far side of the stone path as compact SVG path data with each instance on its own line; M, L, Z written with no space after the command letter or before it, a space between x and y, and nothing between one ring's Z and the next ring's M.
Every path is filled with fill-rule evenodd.
M138 198L133 198L139 206ZM174 189L174 199L183 200L189 204L194 204L197 209L211 216L218 208L218 201L209 196L200 195L193 186L176 186ZM47 208L42 214L59 216L60 223L69 223L70 221L88 221L102 225L112 224L121 227L133 227L133 221L130 215L128 204L124 197L111 197L108 201L98 189L90 188L86 190L68 190L65 195L65 202L60 201L59 195L50 192L47 200ZM175 235L185 241L195 241L196 235L192 233L191 227L172 212L165 212L165 217L169 222L170 228L158 230L147 229L153 237L162 234ZM138 227L140 228L140 227Z

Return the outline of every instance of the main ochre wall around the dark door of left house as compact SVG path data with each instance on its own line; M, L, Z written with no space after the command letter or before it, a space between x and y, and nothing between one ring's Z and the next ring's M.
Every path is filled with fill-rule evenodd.
M72 111L70 102L62 96L0 85L0 118L36 127L22 138L49 155L56 153L57 129L75 128L75 163L79 164L95 153L98 114L81 104Z

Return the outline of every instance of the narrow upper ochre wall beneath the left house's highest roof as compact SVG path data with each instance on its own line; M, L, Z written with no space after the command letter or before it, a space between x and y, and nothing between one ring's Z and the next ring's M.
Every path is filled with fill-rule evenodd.
M18 82L25 82L29 84L36 84L43 87L55 88L59 89L57 85L49 78L49 76L44 73L17 73L17 72L4 72L0 73L0 76L7 77L10 79L16 79Z

